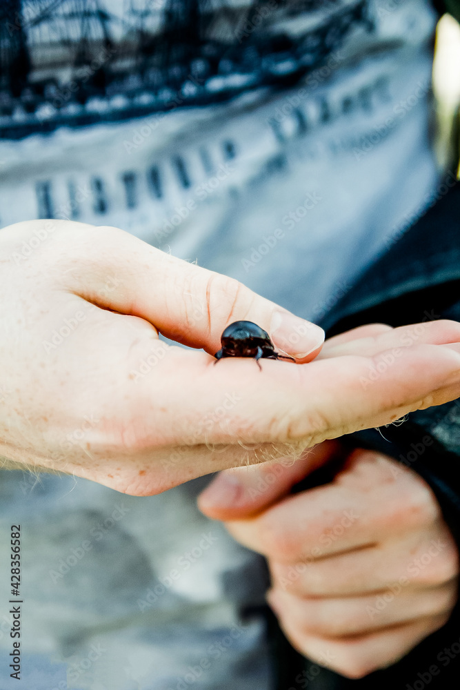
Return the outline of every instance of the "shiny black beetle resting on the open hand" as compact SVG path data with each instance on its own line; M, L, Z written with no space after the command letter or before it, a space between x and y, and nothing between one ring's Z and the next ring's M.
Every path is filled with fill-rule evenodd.
M252 321L235 321L227 326L221 335L221 349L214 357L217 361L223 357L252 357L261 369L259 359L291 359L290 355L279 355L275 352L270 335ZM217 362L214 362L217 364Z

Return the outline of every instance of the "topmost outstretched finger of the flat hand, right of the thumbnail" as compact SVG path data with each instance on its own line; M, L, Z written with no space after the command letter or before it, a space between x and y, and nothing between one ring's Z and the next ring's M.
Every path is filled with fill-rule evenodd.
M391 348L394 348L393 356L398 357L401 348L423 343L459 342L459 336L460 324L447 319L399 328L372 324L328 339L321 351L321 359L353 354L372 356Z

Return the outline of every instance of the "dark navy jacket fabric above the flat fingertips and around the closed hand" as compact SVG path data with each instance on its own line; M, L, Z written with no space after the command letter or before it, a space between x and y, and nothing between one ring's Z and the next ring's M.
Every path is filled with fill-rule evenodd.
M439 188L438 199L412 228L390 246L361 276L326 317L330 337L372 322L391 326L428 319L460 321L460 184L452 176ZM460 403L454 401L408 415L399 426L361 431L343 438L350 448L370 448L403 462L419 473L437 497L460 549ZM383 435L382 435L383 434ZM297 491L330 480L337 468L323 471ZM290 653L290 673L279 690L450 690L460 673L460 605L448 624L397 664L348 680L326 669L316 677L310 661Z

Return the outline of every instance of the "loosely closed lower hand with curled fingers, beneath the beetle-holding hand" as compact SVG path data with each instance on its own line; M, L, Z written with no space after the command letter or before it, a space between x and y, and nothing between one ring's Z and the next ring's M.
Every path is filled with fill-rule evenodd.
M447 622L459 558L428 485L386 455L354 451L332 483L286 496L339 453L337 442L324 442L294 465L223 472L199 506L266 556L268 602L292 645L361 678Z

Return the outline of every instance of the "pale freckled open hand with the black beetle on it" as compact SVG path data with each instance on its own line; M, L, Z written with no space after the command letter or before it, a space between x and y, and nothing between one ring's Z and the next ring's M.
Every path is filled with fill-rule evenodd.
M308 367L214 366L232 321L256 322L290 354L310 353L299 362L317 355L323 333L116 228L28 221L1 231L0 257L0 452L22 465L150 495L460 395L453 322L425 324L369 386L372 363L403 329L372 344L361 337L345 353L332 339L339 355L330 349ZM168 346L159 331L205 352Z

